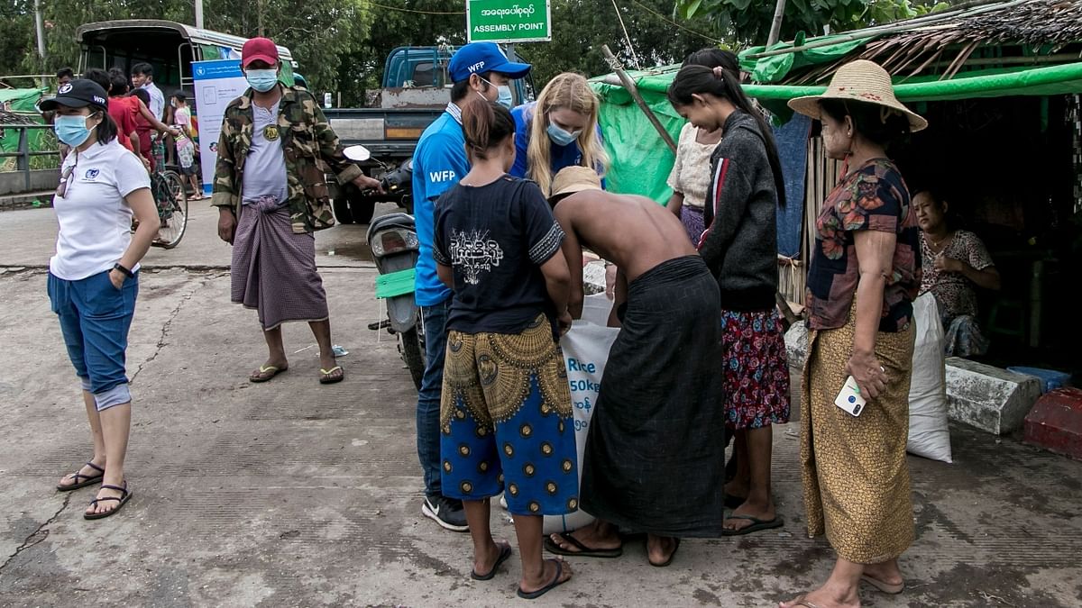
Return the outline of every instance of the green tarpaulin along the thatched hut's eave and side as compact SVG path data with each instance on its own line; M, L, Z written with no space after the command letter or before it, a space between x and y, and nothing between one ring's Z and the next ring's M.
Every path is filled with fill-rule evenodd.
M658 116L675 141L684 119L669 104L665 90L676 76L670 66L650 72L631 72L646 104ZM612 163L608 173L609 189L621 194L637 194L664 203L672 195L665 185L674 155L646 119L625 89L593 79L592 87L602 100L599 122L605 136L605 149ZM896 83L898 98L906 103L942 102L975 97L1007 97L1017 95L1064 95L1082 93L1082 62L1047 67L1014 67L969 71L951 80L937 77L912 78ZM744 91L775 111L782 120L791 113L786 102L803 95L821 93L824 87L788 87L745 84ZM934 125L933 125L934 128Z

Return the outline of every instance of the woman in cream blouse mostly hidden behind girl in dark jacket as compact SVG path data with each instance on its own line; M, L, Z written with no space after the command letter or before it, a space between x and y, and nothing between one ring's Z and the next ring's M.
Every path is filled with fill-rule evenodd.
M737 56L722 49L708 48L696 51L688 55L684 65L723 67L735 74L740 72ZM707 229L702 214L711 181L710 155L721 141L721 129L704 131L690 122L685 124L676 143L676 162L667 182L673 189L673 196L667 207L684 223L687 236L695 246L699 244L699 239Z

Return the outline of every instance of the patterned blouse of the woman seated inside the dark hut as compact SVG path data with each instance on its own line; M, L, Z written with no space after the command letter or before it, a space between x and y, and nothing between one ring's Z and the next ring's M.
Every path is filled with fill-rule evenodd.
M937 270L935 260L939 255L961 260L977 270L984 270L995 264L980 238L968 230L955 230L950 241L939 252L932 253L927 239L921 234L921 254L924 256L924 277L921 279L921 293L931 291L936 296L939 314L953 319L960 315L977 315L976 285L965 275Z

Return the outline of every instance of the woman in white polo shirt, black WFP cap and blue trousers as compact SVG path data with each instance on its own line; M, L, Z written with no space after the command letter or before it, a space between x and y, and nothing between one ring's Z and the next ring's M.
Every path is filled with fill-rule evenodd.
M57 490L102 484L83 517L100 519L131 498L124 454L131 393L124 372L128 329L138 292L138 262L158 232L158 212L143 163L117 141L105 90L90 80L61 87L41 107L71 153L53 199L60 223L49 261L49 299L68 357L82 384L94 457L61 479ZM131 234L132 215L138 221Z

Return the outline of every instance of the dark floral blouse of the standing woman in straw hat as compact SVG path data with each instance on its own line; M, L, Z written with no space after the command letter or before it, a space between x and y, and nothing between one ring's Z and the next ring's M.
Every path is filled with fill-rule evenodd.
M885 158L869 160L849 172L827 197L816 219L805 293L808 327L834 329L848 321L860 280L854 239L858 230L898 236L879 330L901 331L913 315L913 300L921 285L921 229L906 182L898 168Z

